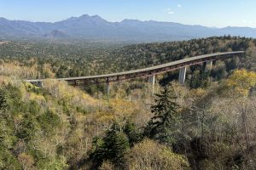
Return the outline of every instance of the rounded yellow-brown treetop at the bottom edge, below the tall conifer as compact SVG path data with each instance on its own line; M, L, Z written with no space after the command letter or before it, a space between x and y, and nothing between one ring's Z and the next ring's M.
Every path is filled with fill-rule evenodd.
M136 144L127 154L128 169L162 169L177 170L189 169L189 162L184 156L175 154L165 145L158 144L150 139L144 139Z

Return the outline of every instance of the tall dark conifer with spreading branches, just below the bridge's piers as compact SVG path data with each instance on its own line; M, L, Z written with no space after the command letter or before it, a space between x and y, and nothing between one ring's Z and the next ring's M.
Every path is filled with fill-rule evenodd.
M178 105L175 102L177 98L173 94L173 87L166 86L160 94L155 94L155 105L151 106L154 116L148 122L145 133L148 133L150 139L156 139L162 144L172 145L175 142L177 133L177 124L179 114Z

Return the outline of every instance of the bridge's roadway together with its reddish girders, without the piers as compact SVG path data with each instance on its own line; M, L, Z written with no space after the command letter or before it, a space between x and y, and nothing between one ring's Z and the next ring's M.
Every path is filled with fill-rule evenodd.
M196 65L205 63L207 61L228 59L238 54L244 54L244 51L236 52L225 52L215 54L204 54L200 56L190 57L186 59L179 59L163 65L155 65L148 68L138 69L134 71L123 71L112 74L89 76L89 77L67 77L67 78L56 78L53 80L67 81L73 85L85 82L119 82L122 80L133 79L138 77L150 77L152 75L160 74L162 72L177 70L189 65ZM99 68L100 69L100 68ZM43 82L44 79L26 80L26 82L38 83Z

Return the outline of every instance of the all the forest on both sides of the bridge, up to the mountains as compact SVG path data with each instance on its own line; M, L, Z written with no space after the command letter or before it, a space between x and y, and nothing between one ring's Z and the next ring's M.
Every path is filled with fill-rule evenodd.
M256 41L209 37L186 42L0 43L0 169L255 169ZM132 70L222 51L241 57L177 72L75 88L33 77ZM86 53L85 53L86 52ZM104 60L105 59L105 60ZM102 68L98 70L96 68Z

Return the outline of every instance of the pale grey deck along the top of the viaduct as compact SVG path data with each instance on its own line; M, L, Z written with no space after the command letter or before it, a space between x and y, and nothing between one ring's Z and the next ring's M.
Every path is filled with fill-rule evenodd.
M106 75L99 75L99 76L89 76L89 77L69 77L69 78L57 78L55 80L59 81L67 81L67 82L72 82L72 81L79 81L79 80L92 80L92 79L103 79L103 78L108 78L108 77L124 77L126 75L134 75L134 74L139 74L142 72L151 72L151 71L157 71L160 69L172 67L175 65L186 65L193 61L207 61L211 60L212 57L218 57L218 56L227 56L227 55L233 55L233 54L243 54L244 51L236 51L236 52L225 52L225 53L215 53L215 54L205 54L205 55L200 55L200 56L195 56L191 58L186 58L186 59L180 59L177 61L172 61L170 63L166 63L163 65L156 65L144 69L139 69L139 70L134 70L134 71L124 71L124 72L119 72L119 73L113 73L113 74L106 74ZM212 59L214 60L214 59ZM27 80L26 82L42 82L44 79L38 79L38 80Z

